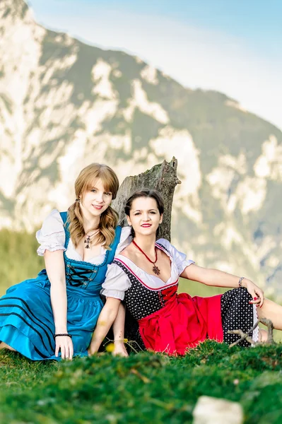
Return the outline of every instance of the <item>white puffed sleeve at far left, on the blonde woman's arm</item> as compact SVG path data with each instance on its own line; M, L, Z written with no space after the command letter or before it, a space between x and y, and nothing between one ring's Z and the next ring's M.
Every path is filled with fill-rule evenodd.
M45 250L49 250L50 252L66 250L64 248L65 237L64 223L61 215L57 209L53 209L43 221L41 230L36 232L37 242L40 243L37 254L43 256Z

